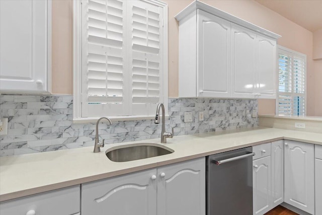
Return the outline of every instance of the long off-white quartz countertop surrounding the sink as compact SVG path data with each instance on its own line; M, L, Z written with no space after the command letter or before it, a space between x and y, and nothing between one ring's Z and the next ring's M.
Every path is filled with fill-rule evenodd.
M140 142L159 143L148 139L106 145L101 153L94 147L26 154L0 158L0 201L82 184L135 171L155 168L229 150L289 139L322 145L322 133L257 127L232 131L175 136L162 144L172 154L129 162L112 162L105 151L111 147Z

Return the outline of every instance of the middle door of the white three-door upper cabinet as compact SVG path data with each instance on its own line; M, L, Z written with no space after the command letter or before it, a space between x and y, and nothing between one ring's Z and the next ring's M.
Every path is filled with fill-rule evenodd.
M231 24L231 96L255 97L256 33Z

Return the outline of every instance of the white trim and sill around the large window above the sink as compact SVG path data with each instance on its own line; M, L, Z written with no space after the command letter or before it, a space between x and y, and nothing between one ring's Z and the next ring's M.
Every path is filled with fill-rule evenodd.
M164 20L168 20L168 5L157 0L140 0L163 7ZM168 25L164 21L164 25ZM163 101L168 115L168 27L163 35ZM82 5L73 1L73 123L96 122L100 117L82 117ZM156 110L156 106L155 106ZM112 121L154 119L155 115L112 116Z

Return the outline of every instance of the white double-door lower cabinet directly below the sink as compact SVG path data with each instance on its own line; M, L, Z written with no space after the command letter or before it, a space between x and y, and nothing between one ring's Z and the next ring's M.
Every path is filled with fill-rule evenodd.
M205 214L205 158L82 185L82 215Z

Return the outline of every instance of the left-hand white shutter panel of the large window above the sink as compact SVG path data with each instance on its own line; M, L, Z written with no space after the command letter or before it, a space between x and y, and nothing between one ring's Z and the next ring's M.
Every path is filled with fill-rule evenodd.
M82 116L122 115L128 111L124 3L89 0L82 5Z

